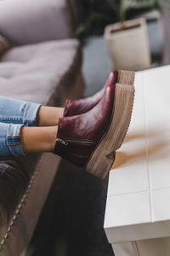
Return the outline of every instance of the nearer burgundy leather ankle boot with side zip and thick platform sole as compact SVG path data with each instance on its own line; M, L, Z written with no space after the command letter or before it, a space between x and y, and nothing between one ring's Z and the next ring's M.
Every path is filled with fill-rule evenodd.
M129 75L133 80L134 73ZM125 77L122 80L126 82ZM133 96L132 85L110 84L99 103L87 113L60 118L54 154L104 178L126 136Z

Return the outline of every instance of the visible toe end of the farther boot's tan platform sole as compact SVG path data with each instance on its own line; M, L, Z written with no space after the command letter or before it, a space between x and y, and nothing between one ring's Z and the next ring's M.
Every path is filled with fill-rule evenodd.
M119 84L134 84L135 73L133 71L119 70L118 83Z

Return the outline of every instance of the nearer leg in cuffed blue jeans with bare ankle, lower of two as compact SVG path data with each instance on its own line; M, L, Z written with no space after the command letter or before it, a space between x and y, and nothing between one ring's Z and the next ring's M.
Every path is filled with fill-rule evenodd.
M0 156L54 152L58 126L27 127L0 123Z

